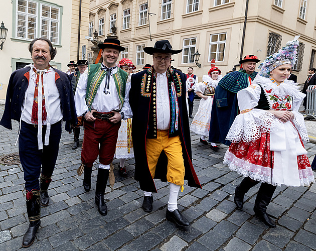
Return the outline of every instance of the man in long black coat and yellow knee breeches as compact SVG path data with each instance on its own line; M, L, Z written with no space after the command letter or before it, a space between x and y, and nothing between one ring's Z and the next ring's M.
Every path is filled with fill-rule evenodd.
M177 199L184 179L188 185L201 187L192 165L189 118L186 105L186 76L169 67L173 50L168 40L145 47L153 65L131 76L129 104L133 112L132 138L135 179L144 191L142 208L152 210L157 192L153 179L170 183L166 218L178 226L190 222L178 210Z

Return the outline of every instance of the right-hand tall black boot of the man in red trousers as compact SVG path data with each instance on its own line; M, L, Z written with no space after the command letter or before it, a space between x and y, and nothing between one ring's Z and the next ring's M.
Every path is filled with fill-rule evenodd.
M107 206L104 201L104 193L106 188L107 179L109 177L109 170L98 169L97 184L95 188L95 204L98 207L98 211L101 215L107 214Z

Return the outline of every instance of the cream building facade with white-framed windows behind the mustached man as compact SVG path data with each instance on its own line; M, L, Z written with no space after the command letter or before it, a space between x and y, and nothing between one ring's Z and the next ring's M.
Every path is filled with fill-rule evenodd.
M7 39L0 50L0 100L6 98L12 72L32 63L28 50L34 38L49 38L57 48L50 64L66 71L69 61L77 60L78 17L81 2L80 52L87 47L89 0L2 0L1 22L8 28Z

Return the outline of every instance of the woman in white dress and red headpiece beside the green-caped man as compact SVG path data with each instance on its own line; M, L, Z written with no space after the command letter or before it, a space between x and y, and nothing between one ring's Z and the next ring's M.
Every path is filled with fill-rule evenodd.
M205 137L209 135L211 111L215 88L222 78L222 72L216 66L212 67L208 75L203 75L202 82L192 86L195 93L201 97L199 109L191 123L190 130L201 135L200 142L207 145ZM218 151L219 147L211 142L211 149Z

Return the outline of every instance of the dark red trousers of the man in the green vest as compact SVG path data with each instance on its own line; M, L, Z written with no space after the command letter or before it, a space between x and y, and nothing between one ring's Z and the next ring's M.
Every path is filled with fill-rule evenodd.
M98 155L102 165L112 163L120 126L120 121L118 123L100 119L95 119L92 122L84 121L81 161L86 167L92 167Z

